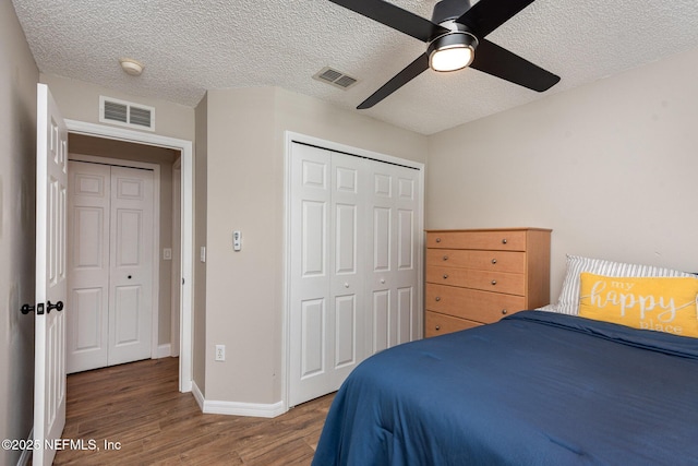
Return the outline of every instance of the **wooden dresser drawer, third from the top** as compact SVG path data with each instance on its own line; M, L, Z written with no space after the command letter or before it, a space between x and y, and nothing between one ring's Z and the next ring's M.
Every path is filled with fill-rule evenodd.
M426 282L526 296L526 276L524 274L428 265Z

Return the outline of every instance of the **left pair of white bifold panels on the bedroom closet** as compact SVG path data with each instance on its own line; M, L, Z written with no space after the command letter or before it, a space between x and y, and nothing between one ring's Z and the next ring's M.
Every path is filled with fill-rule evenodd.
M339 389L365 355L362 165L293 146L290 406Z

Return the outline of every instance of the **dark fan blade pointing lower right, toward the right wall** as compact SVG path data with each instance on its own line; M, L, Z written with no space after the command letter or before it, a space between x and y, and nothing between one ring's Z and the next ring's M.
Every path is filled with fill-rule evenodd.
M470 63L470 68L539 93L547 91L559 82L558 75L486 39L481 39L478 44L476 59Z

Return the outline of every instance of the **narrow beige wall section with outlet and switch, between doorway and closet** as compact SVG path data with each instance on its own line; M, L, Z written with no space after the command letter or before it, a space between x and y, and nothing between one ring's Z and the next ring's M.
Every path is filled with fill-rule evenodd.
M205 398L274 404L274 92L212 89L207 106ZM215 345L226 346L225 361L214 360Z

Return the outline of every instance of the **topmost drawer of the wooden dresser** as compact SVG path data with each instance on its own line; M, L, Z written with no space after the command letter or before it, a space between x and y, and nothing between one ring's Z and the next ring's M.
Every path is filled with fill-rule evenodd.
M526 251L526 230L428 231L426 247Z

